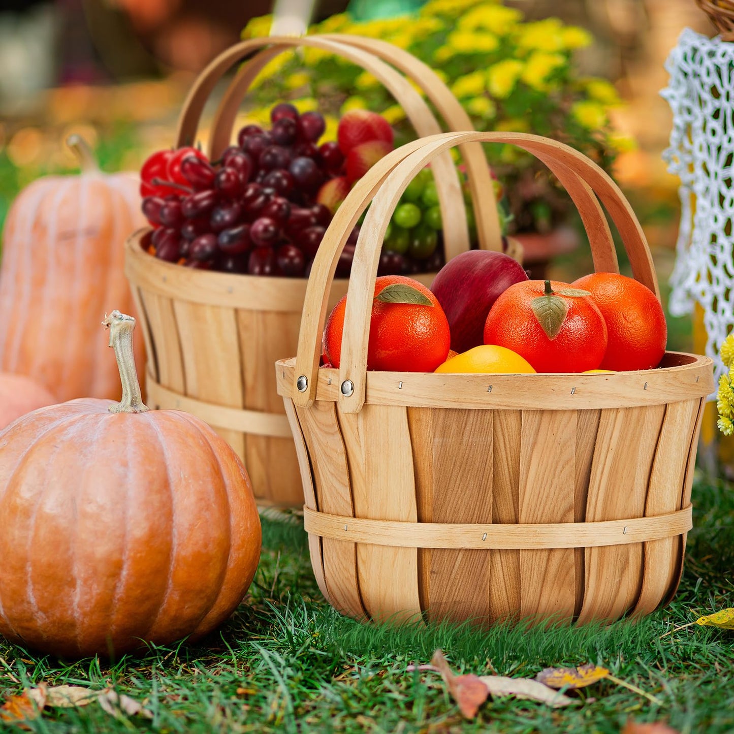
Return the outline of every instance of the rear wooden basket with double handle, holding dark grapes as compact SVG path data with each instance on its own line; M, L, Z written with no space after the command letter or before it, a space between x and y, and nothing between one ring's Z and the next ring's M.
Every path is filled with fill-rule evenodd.
M404 107L418 135L436 134L441 128L408 79L426 90L449 128L471 127L446 84L418 59L389 43L337 35L269 37L229 48L203 71L184 103L177 147L195 141L203 108L219 79L232 65L255 54L234 76L214 116L208 153L211 160L218 159L229 145L237 110L255 76L277 54L298 46L330 51L374 74ZM393 152L384 160L390 165L400 156ZM467 143L462 156L470 174L479 246L500 250L490 170L481 145ZM437 156L433 170L446 258L451 258L470 247L461 184L448 151ZM194 413L216 429L244 460L258 504L302 506L296 452L272 364L296 350L306 281L194 271L165 263L141 246L149 233L135 233L126 245L126 275L148 347L148 400L156 407ZM512 254L521 258L517 248ZM429 284L434 275L418 279ZM346 293L346 283L333 281L331 305Z

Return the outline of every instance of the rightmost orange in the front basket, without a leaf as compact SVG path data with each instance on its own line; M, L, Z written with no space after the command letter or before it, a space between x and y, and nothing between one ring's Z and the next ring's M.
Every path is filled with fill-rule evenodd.
M603 369L651 369L665 354L668 327L660 301L637 280L617 273L592 273L575 280L590 291L604 321L608 342Z

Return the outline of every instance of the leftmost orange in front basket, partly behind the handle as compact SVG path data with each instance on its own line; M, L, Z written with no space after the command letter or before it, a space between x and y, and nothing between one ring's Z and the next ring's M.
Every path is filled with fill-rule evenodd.
M385 288L396 285L410 286L427 298L430 305L377 300ZM382 275L375 281L374 295L367 348L368 369L432 372L446 361L451 346L448 319L426 286L404 275ZM339 366L341 358L345 309L346 296L335 305L324 330L324 357L334 367Z

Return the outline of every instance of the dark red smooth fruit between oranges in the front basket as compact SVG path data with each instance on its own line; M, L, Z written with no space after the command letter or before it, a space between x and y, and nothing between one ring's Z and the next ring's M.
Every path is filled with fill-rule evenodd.
M451 349L461 354L484 344L487 313L506 288L522 280L528 280L523 266L502 252L469 250L449 260L431 290L446 313Z

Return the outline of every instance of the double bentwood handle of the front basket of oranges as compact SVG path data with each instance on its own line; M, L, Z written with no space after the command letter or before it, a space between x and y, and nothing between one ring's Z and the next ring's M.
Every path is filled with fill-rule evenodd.
M365 399L367 344L374 281L377 277L382 239L393 209L413 176L431 161L433 156L453 145L458 145L459 142L472 140L517 145L544 161L556 173L559 180L567 185L575 203L579 206L586 231L589 233L595 269L619 272L616 258L611 255L614 252L614 241L608 225L605 222L605 225L600 227L597 222L601 212L596 198L598 197L619 230L634 277L650 288L658 299L660 297L650 250L631 206L619 191L617 184L586 156L554 140L523 133L447 133L424 139L423 145L405 150L401 156L402 160L380 179L382 186L375 182L379 175L379 171L376 171L374 176L369 179L365 177L355 189L352 189L348 199L337 211L337 215L341 215L341 222L350 216L356 220L366 204L372 202L357 242L352 277L349 281L349 299L346 306L339 371L341 383L346 381L352 383L352 389L344 390L340 395L341 408L345 412L358 413ZM399 152L396 150L393 154ZM336 219L337 217L327 232L327 237L324 238L324 242L328 240L327 247L322 244L319 248L306 292L295 374L296 379L301 376L308 377L308 388L298 390L297 386L294 386L293 394L297 404L308 404L315 396L318 357L313 357L313 350L319 351L326 310L325 294L328 293L336 260L350 231L348 229L342 233L336 230L334 225L339 223ZM600 264L606 266L600 267ZM324 283L319 282L320 290L317 291L316 280L320 280L324 273L327 275L325 288ZM320 322L317 321L319 318Z

